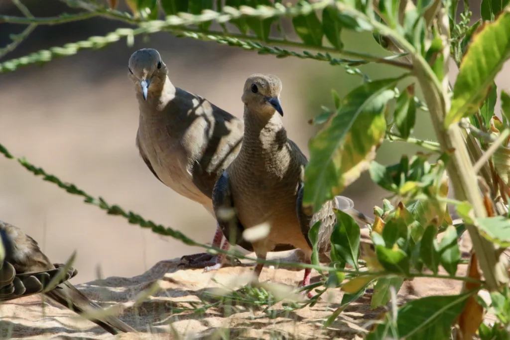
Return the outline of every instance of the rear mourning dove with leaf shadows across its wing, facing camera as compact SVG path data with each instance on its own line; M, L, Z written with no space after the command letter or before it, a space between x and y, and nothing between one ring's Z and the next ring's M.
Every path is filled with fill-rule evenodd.
M149 170L175 192L202 204L214 217L217 178L241 148L243 121L208 100L173 86L155 49L137 50L129 60L140 118L136 145ZM220 247L219 226L212 245ZM225 241L221 247L228 250ZM292 249L292 248L291 248ZM289 250L287 247L276 250ZM210 254L183 256L192 267L218 264Z

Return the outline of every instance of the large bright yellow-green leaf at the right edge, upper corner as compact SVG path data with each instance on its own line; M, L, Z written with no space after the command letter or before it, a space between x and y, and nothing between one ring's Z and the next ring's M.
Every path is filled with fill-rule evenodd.
M451 109L445 126L475 112L486 97L494 77L510 57L510 11L483 24L462 60L453 87Z

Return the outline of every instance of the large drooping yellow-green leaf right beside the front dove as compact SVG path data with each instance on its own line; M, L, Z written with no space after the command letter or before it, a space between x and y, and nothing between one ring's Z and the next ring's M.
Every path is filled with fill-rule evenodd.
M329 124L310 140L303 206L318 211L369 167L386 133L384 112L397 81L379 80L352 90Z

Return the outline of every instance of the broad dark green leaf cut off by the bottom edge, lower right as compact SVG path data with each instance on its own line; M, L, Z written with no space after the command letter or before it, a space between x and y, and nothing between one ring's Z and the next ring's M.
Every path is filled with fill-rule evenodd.
M398 309L397 337L406 340L449 340L451 326L472 293L450 296L429 296L407 302ZM386 318L366 337L367 340L384 340L393 320Z

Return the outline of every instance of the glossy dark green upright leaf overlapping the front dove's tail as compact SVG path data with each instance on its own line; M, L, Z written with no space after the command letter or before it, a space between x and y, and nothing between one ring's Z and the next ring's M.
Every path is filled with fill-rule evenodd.
M333 261L344 261L358 270L360 250L360 226L348 214L335 210L337 224L331 233ZM335 249L335 250L333 250Z

